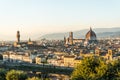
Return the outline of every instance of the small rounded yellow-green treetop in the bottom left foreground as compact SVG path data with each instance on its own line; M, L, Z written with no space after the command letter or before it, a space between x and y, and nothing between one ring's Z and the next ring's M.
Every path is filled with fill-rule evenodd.
M7 72L6 79L7 80L26 80L27 74L23 71L11 70Z

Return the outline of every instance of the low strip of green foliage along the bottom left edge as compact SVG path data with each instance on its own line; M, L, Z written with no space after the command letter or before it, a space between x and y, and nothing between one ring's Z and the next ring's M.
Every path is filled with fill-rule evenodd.
M30 78L27 73L20 70L5 70L0 69L0 80L50 80L49 78Z

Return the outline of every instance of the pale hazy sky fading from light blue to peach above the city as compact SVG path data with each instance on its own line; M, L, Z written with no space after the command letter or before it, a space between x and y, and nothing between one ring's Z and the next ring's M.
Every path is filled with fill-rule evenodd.
M120 0L0 0L0 40L120 27Z

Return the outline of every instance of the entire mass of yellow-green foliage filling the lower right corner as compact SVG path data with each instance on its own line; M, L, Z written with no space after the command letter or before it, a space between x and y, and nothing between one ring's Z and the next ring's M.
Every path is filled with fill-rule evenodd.
M72 80L120 80L120 60L105 63L100 57L86 57L74 69Z

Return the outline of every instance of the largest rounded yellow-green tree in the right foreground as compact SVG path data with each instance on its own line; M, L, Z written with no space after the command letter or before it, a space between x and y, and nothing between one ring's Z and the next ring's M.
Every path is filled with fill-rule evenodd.
M92 56L85 57L74 69L72 80L103 80L107 71L107 65L102 58Z

